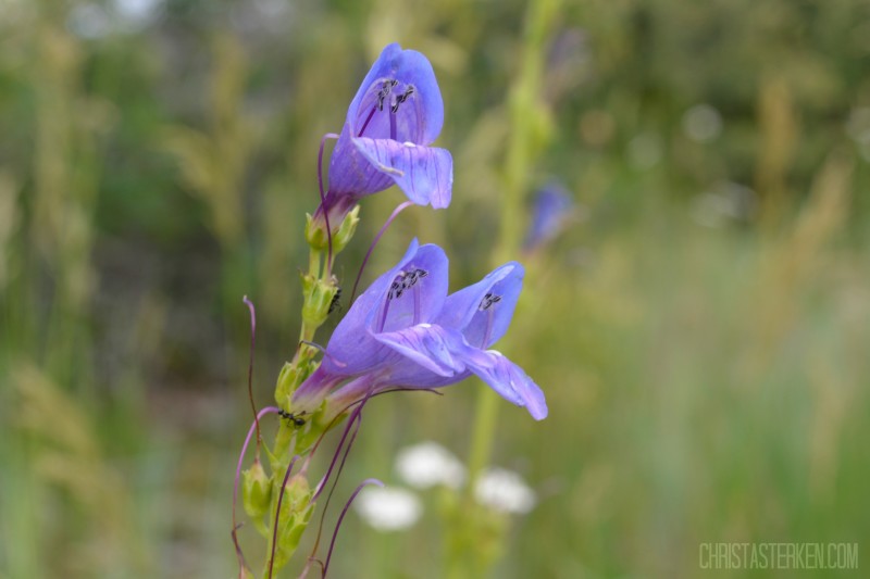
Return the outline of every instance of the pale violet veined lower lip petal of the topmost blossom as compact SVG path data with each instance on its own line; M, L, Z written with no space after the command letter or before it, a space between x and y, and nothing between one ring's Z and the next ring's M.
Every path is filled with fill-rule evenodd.
M366 138L353 139L353 144L418 205L444 209L450 204L453 160L446 149Z

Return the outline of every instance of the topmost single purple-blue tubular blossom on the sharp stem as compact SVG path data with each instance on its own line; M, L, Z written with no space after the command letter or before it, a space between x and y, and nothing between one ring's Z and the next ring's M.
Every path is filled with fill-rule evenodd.
M414 50L387 46L350 103L333 151L323 203L330 222L339 224L360 198L394 182L417 204L449 205L452 158L428 147L443 124L444 102L430 62Z

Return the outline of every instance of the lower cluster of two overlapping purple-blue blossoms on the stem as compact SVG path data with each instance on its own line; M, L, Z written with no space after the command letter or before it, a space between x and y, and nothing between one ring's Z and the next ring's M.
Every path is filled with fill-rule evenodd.
M510 325L523 273L522 265L509 262L447 295L444 250L412 241L338 324L323 363L296 391L293 407L312 411L327 395L344 407L388 388L439 388L475 374L535 419L546 417L540 388L488 350Z

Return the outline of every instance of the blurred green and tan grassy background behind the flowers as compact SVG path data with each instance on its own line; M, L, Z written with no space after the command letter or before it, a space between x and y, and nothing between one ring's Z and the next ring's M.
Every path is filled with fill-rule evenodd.
M0 0L0 577L235 575L241 297L263 405L296 347L320 137L390 41L435 67L456 181L368 279L418 236L464 286L500 251L505 189L574 198L510 255L501 347L550 415L499 408L492 462L539 501L493 575L724 576L699 543L870 538L870 5L548 7L532 34L518 0ZM364 201L346 290L401 200ZM373 401L339 493L395 482L422 440L467 458L482 388ZM332 575L438 577L430 503L403 533L349 517Z

